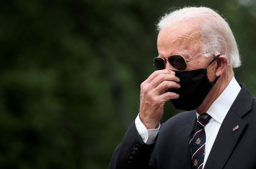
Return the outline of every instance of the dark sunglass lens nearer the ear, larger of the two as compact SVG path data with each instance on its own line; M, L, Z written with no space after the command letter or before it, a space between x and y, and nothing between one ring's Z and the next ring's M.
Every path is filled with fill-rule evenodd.
M168 58L168 62L172 65L173 68L184 71L187 68L187 63L181 55L173 55Z

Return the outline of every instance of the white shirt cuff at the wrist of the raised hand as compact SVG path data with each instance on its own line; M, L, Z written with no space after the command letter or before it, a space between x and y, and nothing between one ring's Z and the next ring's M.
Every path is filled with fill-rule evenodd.
M140 115L140 113L138 114L138 116L135 119L136 129L137 129L137 131L138 131L139 135L141 136L144 143L152 144L152 143L155 142L157 133L160 129L160 123L158 122L158 124L156 125L156 129L147 129L144 126L144 124L141 122L139 115Z

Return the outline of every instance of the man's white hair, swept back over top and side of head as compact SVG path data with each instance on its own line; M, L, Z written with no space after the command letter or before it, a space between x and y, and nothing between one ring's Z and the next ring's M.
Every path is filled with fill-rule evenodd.
M202 51L217 50L228 59L228 64L232 68L241 65L240 55L235 37L229 27L228 22L216 11L206 7L184 7L182 9L171 9L170 13L165 14L159 19L157 30L173 26L181 21L191 18L200 18L199 26L202 36ZM209 57L209 54L205 54Z

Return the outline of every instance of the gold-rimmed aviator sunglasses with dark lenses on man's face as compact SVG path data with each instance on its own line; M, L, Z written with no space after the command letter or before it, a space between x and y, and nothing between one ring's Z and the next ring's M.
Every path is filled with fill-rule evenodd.
M208 52L211 52L213 50L210 50ZM199 55L203 55L205 53L208 52L204 52L201 53ZM196 56L199 56L196 55ZM171 55L171 56L164 56L164 57L155 57L153 59L153 65L155 66L156 70L163 70L166 67L166 60L168 60L168 62L172 65L172 67L176 70L180 70L180 71L184 71L187 69L187 61L196 57L193 56L189 59L185 59L182 55ZM168 57L168 58L166 58Z

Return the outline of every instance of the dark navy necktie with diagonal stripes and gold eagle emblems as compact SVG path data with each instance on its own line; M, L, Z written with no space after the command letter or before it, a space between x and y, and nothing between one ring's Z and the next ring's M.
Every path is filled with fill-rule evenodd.
M196 127L189 137L193 169L201 169L204 165L204 148L206 141L204 126L211 118L212 117L207 113L199 115L196 121Z

